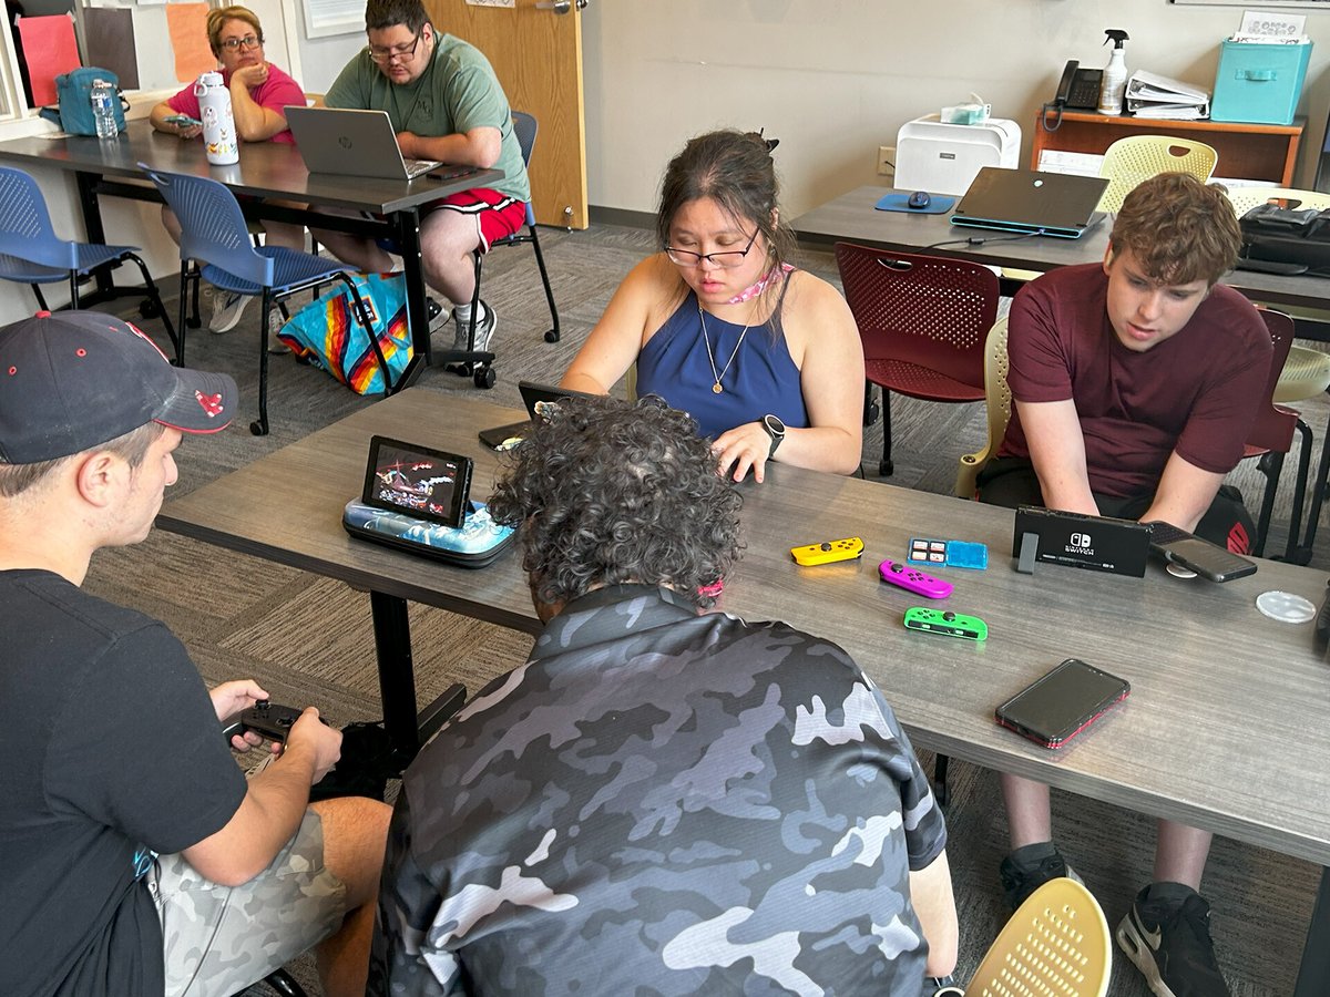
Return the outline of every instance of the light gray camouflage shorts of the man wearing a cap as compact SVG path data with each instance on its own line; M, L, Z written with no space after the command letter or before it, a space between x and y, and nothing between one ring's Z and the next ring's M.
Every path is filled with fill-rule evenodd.
M166 997L230 997L332 935L346 884L323 865L323 822L305 811L295 836L242 887L219 887L180 855L148 873L166 958Z

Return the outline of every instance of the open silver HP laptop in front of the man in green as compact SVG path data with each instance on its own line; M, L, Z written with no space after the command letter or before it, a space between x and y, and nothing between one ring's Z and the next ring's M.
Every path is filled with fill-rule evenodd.
M310 173L415 179L443 165L434 160L403 160L384 110L293 105L285 113Z

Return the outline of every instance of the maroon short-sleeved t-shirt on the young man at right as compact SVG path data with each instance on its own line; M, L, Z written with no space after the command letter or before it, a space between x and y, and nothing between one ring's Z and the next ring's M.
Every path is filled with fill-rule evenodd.
M1216 284L1192 320L1134 352L1108 320L1099 263L1061 267L1011 306L1007 383L1017 401L1076 401L1092 492L1153 495L1169 456L1226 475L1242 459L1270 375L1270 334L1250 302ZM1000 456L1029 457L1012 407Z

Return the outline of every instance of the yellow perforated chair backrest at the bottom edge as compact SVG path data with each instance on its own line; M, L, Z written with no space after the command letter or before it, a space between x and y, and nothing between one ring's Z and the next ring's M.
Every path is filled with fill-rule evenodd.
M1076 880L1051 879L1007 921L966 993L1104 997L1111 969L1104 911Z

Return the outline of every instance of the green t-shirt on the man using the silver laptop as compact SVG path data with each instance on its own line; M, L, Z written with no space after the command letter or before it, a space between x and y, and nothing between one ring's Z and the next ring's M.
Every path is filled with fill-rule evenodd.
M512 109L489 60L475 45L435 35L430 66L408 84L391 82L370 60L370 47L346 64L323 98L330 108L386 110L394 132L451 136L472 128L497 128L503 137L495 166L504 173L492 187L531 201L521 146L512 130Z

